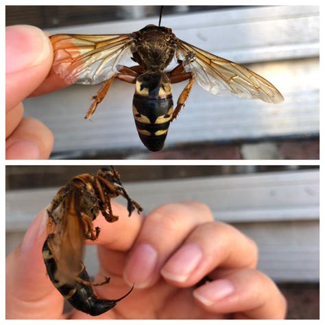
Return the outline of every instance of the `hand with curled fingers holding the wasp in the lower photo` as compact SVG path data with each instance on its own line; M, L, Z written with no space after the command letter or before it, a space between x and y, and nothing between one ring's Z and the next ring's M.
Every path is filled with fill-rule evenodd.
M114 204L119 221L99 216L99 274L109 285L97 296L130 295L97 319L282 319L286 301L274 282L256 270L256 244L213 221L197 202L166 204L145 219ZM63 315L63 298L45 276L41 254L46 212L27 230L23 244L6 263L6 316L9 319L90 319L80 311ZM90 242L92 243L92 242ZM94 244L94 243L93 243ZM210 282L197 283L208 276ZM127 285L128 283L128 285Z

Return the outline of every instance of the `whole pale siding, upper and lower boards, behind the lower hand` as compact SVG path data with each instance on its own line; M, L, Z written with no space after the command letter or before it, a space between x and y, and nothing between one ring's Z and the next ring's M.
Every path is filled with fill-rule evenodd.
M319 172L294 171L125 184L145 212L166 202L200 200L215 219L231 222L258 243L258 267L278 281L319 279ZM58 189L8 191L6 249L13 250L38 210ZM17 204L19 202L19 204ZM97 269L95 248L86 265Z

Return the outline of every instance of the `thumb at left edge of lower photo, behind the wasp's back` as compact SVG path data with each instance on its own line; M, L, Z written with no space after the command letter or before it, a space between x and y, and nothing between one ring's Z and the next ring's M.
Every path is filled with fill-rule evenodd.
M23 243L5 263L5 307L8 319L58 319L63 298L53 286L42 256L47 213L43 210L29 226Z

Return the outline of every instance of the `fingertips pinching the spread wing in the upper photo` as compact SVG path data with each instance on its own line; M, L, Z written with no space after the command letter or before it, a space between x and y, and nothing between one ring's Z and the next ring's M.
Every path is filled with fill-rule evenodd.
M23 117L22 101L45 80L52 60L51 43L40 29L5 29L6 159L47 159L51 154L53 134L42 122Z

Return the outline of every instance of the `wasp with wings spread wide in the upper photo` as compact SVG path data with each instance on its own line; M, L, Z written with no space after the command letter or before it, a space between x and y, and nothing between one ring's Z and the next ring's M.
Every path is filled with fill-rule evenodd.
M161 11L160 11L161 20ZM260 75L208 53L177 38L171 28L147 25L130 34L50 36L54 60L50 75L56 82L99 84L104 82L86 114L90 119L114 80L135 84L133 116L136 130L147 149L163 148L169 124L178 117L195 80L215 95L236 95L280 103L280 92ZM125 67L126 59L137 65ZM173 60L177 66L166 71ZM173 108L171 84L188 80Z

